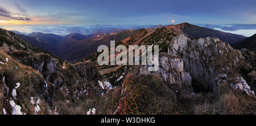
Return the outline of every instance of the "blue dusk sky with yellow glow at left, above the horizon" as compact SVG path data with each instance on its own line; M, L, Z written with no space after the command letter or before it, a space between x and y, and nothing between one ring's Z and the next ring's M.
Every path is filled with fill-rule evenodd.
M256 24L256 1L0 0L1 26L167 25L183 22L191 24Z

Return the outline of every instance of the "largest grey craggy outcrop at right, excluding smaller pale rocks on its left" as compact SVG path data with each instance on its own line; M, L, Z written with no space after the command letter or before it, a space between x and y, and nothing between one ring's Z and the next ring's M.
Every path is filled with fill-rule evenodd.
M244 62L239 50L218 38L191 40L181 34L174 37L168 54L183 59L184 71L190 73L197 88L213 91L214 79L219 73L238 73Z

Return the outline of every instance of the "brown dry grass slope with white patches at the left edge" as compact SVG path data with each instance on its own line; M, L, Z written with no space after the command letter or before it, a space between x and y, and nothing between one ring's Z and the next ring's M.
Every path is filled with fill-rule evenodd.
M22 112L26 113L27 115L35 114L35 106L30 103L30 97L41 98L43 96L44 93L42 86L44 85L44 79L42 74L31 67L24 66L23 64L19 63L2 50L0 51L0 54L0 60L5 62L5 64L0 65L1 83L2 77L5 77L5 84L10 89L9 94L3 94L3 87L1 85L1 110L4 107L8 114L11 113L11 107L8 102L5 103L5 101L14 99L11 95L11 91L16 86L16 83L19 82L20 86L16 89L17 95L14 101L17 105L22 107ZM6 61L6 58L9 59L8 62ZM43 99L41 101L43 101Z

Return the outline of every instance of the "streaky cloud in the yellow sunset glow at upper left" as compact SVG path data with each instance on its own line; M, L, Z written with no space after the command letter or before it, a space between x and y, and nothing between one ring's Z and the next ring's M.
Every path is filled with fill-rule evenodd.
M24 14L15 14L13 12L7 11L5 8L2 7L0 7L0 19L31 21L31 19L24 16Z

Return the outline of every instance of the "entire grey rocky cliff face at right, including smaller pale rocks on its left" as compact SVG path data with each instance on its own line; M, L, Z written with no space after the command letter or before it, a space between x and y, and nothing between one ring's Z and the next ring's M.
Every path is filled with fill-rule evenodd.
M170 84L178 82L193 86L195 90L214 92L214 79L218 74L247 77L245 72L255 68L254 58L249 56L252 54L246 56L245 51L233 49L218 38L191 40L181 34L169 43L168 54L159 56L158 71L148 72L149 66L142 66L142 75L160 75Z

